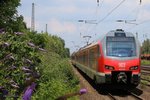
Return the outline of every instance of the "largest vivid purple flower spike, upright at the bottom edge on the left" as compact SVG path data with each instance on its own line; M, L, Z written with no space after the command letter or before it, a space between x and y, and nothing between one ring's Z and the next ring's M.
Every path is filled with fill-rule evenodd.
M31 96L32 96L33 90L35 90L35 86L36 86L36 83L33 82L30 86L27 87L22 97L22 100L31 100Z

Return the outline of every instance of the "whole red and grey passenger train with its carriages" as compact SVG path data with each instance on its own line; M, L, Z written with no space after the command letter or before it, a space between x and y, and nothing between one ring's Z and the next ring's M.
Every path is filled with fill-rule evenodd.
M132 33L117 29L71 56L72 63L99 84L140 82L140 45Z

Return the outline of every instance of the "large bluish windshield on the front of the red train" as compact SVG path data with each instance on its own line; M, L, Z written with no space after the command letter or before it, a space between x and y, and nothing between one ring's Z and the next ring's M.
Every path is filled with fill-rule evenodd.
M107 37L106 55L114 57L136 56L136 46L133 37Z

